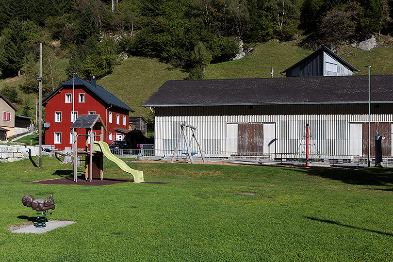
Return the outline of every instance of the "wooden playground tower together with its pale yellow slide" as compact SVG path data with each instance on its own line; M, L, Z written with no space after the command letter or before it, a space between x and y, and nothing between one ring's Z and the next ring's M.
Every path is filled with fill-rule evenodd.
M109 160L115 162L123 171L130 173L134 177L135 183L144 182L143 171L134 170L130 168L122 160L115 157L109 150L108 144L103 142L104 130L107 130L99 115L80 115L71 128L73 131L73 166L74 166L74 181L78 182L78 173L84 173L85 179L92 181L93 178L103 179L103 156L105 155ZM84 134L78 134L77 129L85 129ZM95 135L93 130L101 129L100 135ZM84 148L78 148L78 137L85 137ZM94 141L95 137L100 137L100 141ZM78 157L84 165L78 166ZM84 170L78 172L78 167L84 167Z

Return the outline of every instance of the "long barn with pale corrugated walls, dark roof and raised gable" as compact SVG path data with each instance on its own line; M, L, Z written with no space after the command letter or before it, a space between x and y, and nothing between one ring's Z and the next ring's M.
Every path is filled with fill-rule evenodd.
M317 52L329 54L326 50ZM322 62L319 59L322 68L332 57L337 58L330 54ZM344 65L351 73L167 81L143 104L155 108L155 149L170 154L180 137L180 123L187 122L198 127L198 140L207 156L260 152L268 158L295 158L309 124L314 143L311 150L322 158L366 156L369 76L349 76L357 69L342 59L335 61L337 68ZM287 74L296 65L288 68ZM375 130L385 132L384 156L392 156L392 82L393 75L371 76L371 139ZM371 152L374 154L373 148Z

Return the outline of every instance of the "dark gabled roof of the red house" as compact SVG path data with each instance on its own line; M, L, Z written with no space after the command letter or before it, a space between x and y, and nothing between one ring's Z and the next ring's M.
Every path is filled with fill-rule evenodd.
M42 100L42 103L46 103L49 101L50 98L52 98L54 95L57 94L57 92L63 88L64 86L73 86L74 80L71 78L65 83L62 83L56 90L54 90L52 93L50 93L46 98ZM75 77L75 86L77 85L84 85L87 89L89 89L91 92L96 94L99 98L101 98L104 102L114 105L123 109L126 109L128 111L134 112L128 105L126 105L123 101L121 101L119 98L115 97L111 92L103 88L102 86L99 86L98 84L93 85L92 83L83 80L82 78Z

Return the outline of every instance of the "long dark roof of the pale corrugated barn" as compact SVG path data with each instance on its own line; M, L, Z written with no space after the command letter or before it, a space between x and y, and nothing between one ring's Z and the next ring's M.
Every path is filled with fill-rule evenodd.
M393 75L371 76L371 100L393 103ZM369 76L166 81L144 107L368 103Z

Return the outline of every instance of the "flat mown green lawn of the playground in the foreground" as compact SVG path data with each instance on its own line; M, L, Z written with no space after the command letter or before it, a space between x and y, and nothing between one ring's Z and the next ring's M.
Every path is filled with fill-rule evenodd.
M1 261L386 262L393 258L390 168L303 169L132 163L145 181L106 186L25 181L71 175L43 157L0 164ZM104 177L132 178L105 159ZM242 195L239 192L255 193ZM54 194L49 219L76 224L14 234L33 220L25 194Z

